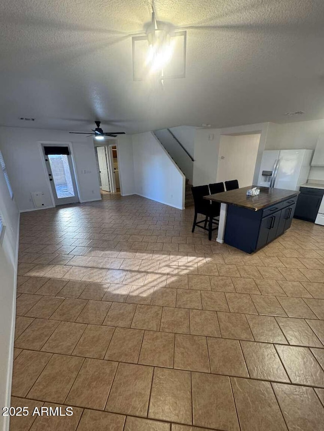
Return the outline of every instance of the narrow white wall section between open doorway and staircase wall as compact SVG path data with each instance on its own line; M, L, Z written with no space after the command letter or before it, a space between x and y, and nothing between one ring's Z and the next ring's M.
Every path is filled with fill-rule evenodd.
M117 141L121 196L134 195L134 162L132 135L120 135Z

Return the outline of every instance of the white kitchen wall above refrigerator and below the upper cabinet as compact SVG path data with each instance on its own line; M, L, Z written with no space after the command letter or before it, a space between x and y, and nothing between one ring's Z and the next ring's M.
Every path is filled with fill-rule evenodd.
M271 123L266 150L314 150L320 133L324 133L324 120ZM324 181L324 167L312 166L308 179Z

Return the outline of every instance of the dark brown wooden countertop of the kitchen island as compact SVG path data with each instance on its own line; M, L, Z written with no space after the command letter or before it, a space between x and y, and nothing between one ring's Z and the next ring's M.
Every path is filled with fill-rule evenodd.
M220 202L222 204L236 205L237 207L248 208L252 211L258 211L266 207L270 207L280 201L292 198L299 195L300 191L286 190L284 188L260 188L260 194L257 196L247 196L247 190L253 188L255 185L249 187L236 188L235 190L223 191L215 195L204 196L204 199Z

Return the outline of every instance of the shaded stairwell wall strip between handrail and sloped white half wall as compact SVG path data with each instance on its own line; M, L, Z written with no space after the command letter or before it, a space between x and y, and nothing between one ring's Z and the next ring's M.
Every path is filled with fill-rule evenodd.
M154 133L163 147L170 154L171 158L184 173L185 177L189 179L190 184L192 184L193 162L184 149L181 148L179 142L177 142L168 129L155 130Z

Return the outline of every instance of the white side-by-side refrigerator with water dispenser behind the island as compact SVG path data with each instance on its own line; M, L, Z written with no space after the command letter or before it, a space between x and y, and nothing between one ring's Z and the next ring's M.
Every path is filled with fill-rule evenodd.
M267 150L263 152L258 185L299 190L307 181L313 150Z

